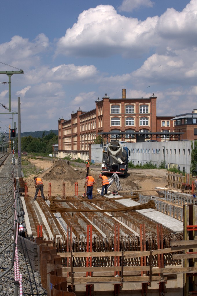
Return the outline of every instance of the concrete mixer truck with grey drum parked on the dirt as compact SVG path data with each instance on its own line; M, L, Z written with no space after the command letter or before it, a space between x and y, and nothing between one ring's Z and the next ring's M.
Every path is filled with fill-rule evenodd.
M126 177L130 150L118 140L103 143L101 173L116 173Z

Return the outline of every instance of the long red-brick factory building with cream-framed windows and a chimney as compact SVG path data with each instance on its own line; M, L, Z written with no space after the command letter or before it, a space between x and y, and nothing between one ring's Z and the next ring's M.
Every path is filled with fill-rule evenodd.
M89 145L101 132L124 132L125 141L135 142L132 137L135 132L147 133L149 137L149 132L174 131L172 116L156 116L156 99L154 93L150 98L127 99L126 89L122 89L121 99L111 99L105 94L102 100L97 99L95 109L84 112L79 108L71 114L71 119L59 119L59 157L71 155L86 159L90 155ZM113 137L117 136L112 134L111 139Z

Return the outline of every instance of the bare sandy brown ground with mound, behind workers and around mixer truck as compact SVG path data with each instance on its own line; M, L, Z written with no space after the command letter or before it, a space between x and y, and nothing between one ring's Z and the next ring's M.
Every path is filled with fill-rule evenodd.
M84 163L68 162L61 159L44 159L37 157L36 159L28 158L32 164L38 168L42 168L39 177L44 184L44 195L48 196L49 183L51 183L51 195L62 195L63 183L67 195L75 195L75 182L78 182L79 195L84 193L84 182L86 176L86 168ZM91 165L89 174L97 181L97 186L100 186L98 176L101 171L101 164ZM165 187L167 185L166 170L164 169L129 169L126 178L120 178L122 190L142 190L144 195L157 195L156 191L148 191L154 187ZM34 175L25 179L28 183L28 194L34 196ZM110 187L110 190L116 190L115 184Z

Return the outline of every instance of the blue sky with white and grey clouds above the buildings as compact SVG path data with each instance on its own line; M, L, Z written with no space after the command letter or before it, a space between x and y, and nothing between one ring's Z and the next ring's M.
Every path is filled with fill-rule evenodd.
M6 65L5 65L6 64ZM105 94L157 96L157 115L197 109L197 0L1 0L0 71L21 132L58 129ZM0 74L0 113L8 76ZM3 107L3 105L5 107ZM9 113L9 112L8 112ZM0 127L18 126L0 114Z

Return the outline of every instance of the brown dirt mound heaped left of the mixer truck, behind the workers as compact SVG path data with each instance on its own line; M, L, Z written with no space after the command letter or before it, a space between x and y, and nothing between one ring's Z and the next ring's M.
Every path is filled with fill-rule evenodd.
M48 180L77 180L78 178L85 178L85 171L74 170L71 165L69 165L64 160L58 160L54 165L52 165L48 170L42 173L39 177Z

